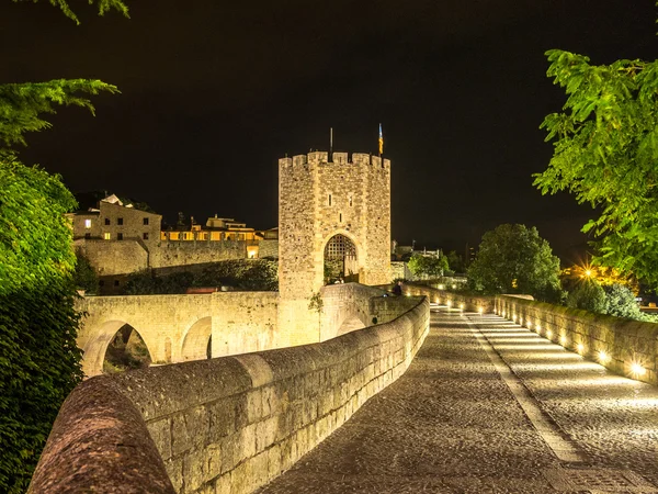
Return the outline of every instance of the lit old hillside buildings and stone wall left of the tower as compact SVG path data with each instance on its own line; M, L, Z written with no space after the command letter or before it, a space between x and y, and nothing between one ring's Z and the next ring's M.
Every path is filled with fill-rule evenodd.
M162 229L162 216L133 207L116 195L69 215L76 250L99 274L101 293L122 291L145 269L203 266L227 259L276 258L277 228L257 232L245 223L209 217L205 226Z

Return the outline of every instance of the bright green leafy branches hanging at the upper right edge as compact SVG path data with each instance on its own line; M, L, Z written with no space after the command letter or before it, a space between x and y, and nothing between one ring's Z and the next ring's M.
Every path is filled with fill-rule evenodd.
M594 262L658 285L658 60L595 66L569 52L546 54L567 101L542 124L554 156L534 184L597 206L599 217L582 228L599 239Z

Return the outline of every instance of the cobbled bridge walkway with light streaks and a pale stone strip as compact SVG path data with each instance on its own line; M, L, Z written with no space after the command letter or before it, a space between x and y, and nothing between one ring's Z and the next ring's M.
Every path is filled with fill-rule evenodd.
M658 493L658 389L433 307L407 373L259 492Z

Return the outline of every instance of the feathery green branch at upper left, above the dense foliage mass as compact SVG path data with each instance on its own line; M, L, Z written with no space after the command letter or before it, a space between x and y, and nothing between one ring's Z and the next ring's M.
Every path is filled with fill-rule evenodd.
M91 101L79 94L98 94L101 91L115 93L118 89L88 79L0 85L0 143L7 148L14 144L25 145L23 134L48 128L50 124L39 115L56 113L56 105L82 106L93 114Z

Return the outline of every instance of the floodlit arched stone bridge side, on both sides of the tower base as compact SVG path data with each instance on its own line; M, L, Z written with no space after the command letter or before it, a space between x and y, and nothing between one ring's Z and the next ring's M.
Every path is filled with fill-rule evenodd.
M325 287L318 325L311 341L325 341L350 330L399 315L383 290L347 283ZM141 337L155 363L174 363L262 351L290 345L277 327L277 292L215 292L194 295L89 296L78 336L88 377L102 372L109 344L125 324ZM313 333L315 332L315 335ZM209 352L208 352L209 346Z

